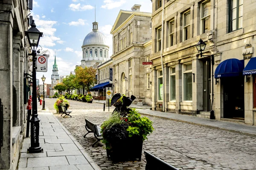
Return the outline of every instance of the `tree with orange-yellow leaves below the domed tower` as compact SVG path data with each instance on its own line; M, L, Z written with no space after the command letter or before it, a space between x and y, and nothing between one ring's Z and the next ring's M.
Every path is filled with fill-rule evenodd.
M75 81L83 88L83 94L85 88L89 92L90 86L96 83L96 69L93 69L92 67L85 67L84 69L82 67L76 67L75 72Z

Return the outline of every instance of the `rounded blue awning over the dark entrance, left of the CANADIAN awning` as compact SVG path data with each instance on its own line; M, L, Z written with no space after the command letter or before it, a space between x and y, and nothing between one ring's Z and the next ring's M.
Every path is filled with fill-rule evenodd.
M215 69L214 78L235 77L242 75L244 63L236 58L222 61Z

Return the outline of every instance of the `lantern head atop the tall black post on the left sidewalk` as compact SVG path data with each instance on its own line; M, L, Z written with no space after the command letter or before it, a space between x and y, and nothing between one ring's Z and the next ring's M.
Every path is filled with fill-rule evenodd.
M40 40L40 37L43 37L43 32L40 32L35 25L35 20L32 20L31 23L31 28L27 31L25 31L25 35L27 36L28 40L29 40L29 45L32 49L32 47L34 47L35 50L36 47L38 47L38 43Z

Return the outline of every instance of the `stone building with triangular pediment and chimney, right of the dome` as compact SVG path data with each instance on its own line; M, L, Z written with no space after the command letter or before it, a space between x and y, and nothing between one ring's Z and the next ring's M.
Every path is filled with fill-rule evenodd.
M113 35L113 82L114 93L136 96L145 102L146 55L151 46L151 13L140 12L140 5L132 11L120 10L111 30ZM148 71L149 72L149 71ZM150 100L148 97L147 101ZM147 104L151 105L151 102Z

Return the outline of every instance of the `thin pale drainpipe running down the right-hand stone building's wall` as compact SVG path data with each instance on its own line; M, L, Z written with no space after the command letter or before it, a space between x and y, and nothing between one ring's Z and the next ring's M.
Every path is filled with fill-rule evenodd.
M164 32L164 20L163 20L163 15L164 15L164 3L165 0L163 0L163 13L162 13L162 35L161 35L161 65L162 65L162 71L163 71L163 109L162 112L165 112L165 89L164 89L164 81L165 81L165 76L164 76L164 69L163 69L163 32Z

